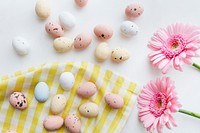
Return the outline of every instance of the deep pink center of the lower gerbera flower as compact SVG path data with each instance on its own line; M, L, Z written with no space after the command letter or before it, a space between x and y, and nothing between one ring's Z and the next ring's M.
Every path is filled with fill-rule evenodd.
M154 94L153 98L150 101L150 111L155 117L161 116L167 106L167 98L165 94L159 92Z

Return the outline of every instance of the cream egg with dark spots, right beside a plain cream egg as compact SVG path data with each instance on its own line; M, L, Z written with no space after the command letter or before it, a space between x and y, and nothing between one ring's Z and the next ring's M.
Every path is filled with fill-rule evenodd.
M115 62L123 62L130 57L130 53L125 48L116 47L112 50L111 57Z

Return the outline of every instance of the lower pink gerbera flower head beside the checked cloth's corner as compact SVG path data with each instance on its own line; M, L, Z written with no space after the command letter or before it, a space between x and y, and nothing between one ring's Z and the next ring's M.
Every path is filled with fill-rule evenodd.
M171 129L176 126L172 113L177 112L181 104L174 91L174 82L168 78L150 81L138 96L139 119L149 132L155 129L162 132L162 127Z

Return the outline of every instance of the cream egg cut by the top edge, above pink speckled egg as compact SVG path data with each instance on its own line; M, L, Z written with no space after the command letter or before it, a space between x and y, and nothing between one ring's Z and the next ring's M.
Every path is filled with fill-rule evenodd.
M37 0L35 12L41 19L47 19L50 16L51 8L49 0Z

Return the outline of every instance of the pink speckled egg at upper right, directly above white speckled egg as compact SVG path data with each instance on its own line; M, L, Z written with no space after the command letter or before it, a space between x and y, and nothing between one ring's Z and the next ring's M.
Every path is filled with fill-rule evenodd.
M143 6L137 3L130 4L125 9L125 14L129 19L134 19L144 12Z

